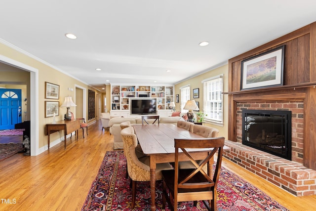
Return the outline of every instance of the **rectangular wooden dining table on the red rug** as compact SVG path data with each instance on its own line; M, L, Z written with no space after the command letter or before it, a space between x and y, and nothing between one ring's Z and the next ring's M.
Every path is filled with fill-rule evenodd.
M150 156L150 189L152 197L151 210L156 211L156 164L174 162L175 138L204 138L173 124L133 125L138 142L145 155ZM210 151L206 149L188 149L192 157L201 160ZM179 154L179 161L186 161L188 157ZM213 161L213 160L211 160ZM212 165L208 165L208 174L212 173Z

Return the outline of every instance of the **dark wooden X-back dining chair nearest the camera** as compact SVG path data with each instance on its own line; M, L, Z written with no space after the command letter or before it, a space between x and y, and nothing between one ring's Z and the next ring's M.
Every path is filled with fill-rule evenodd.
M162 170L162 209L165 209L166 202L170 210L177 210L178 202L203 201L209 211L216 211L216 188L220 174L223 147L225 138L202 138L202 139L174 139L175 147L175 168ZM198 164L188 148L210 148L205 159ZM190 162L194 169L179 169L179 149ZM210 176L210 160L218 153L213 176ZM203 167L207 166L207 172ZM168 190L168 191L167 191ZM173 199L173 203L171 203ZM196 206L196 203L194 204Z

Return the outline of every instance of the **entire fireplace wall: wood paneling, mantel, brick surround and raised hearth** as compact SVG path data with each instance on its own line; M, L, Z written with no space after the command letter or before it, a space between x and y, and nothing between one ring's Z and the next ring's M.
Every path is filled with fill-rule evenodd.
M280 84L242 88L242 64L284 46ZM225 157L296 196L316 194L316 22L228 60ZM242 110L292 113L291 160L242 144Z

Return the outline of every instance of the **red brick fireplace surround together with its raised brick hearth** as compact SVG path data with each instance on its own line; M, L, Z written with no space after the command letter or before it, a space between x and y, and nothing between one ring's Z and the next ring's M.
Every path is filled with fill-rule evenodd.
M316 170L303 166L304 102L240 101L236 108L237 142L225 142L231 151L224 152L224 157L295 196L315 195ZM242 111L245 109L291 111L291 161L242 144Z

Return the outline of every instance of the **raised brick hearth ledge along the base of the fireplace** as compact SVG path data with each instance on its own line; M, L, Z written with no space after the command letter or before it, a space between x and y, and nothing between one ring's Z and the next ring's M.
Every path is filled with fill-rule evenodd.
M238 142L225 141L225 145L231 148L230 151L224 151L225 158L276 186L295 196L316 194L316 170Z

